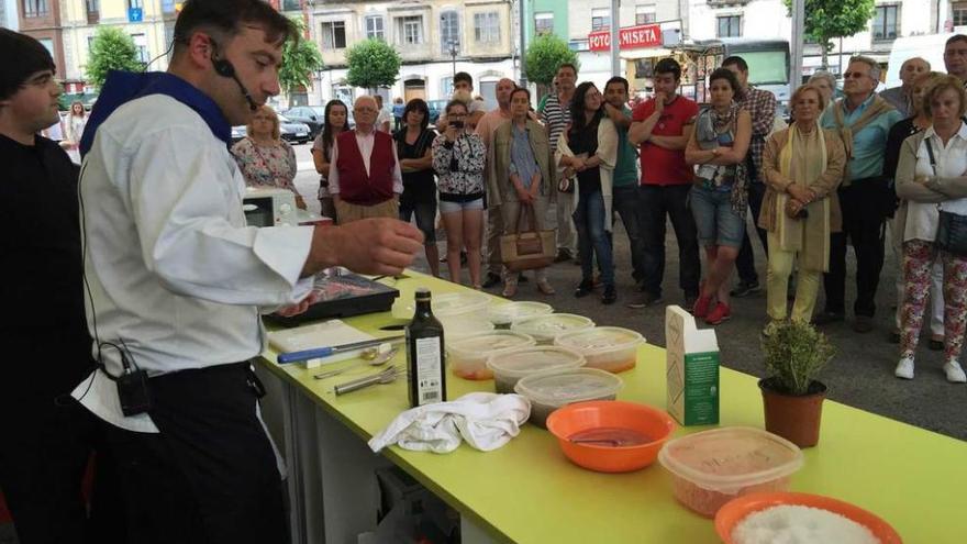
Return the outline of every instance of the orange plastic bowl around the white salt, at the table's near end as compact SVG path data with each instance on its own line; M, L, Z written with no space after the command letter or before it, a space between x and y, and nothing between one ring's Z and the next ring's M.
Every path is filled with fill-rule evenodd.
M751 493L732 499L715 514L715 532L725 544L733 544L732 530L747 515L769 507L802 506L835 512L869 529L880 544L902 544L903 540L897 531L882 518L857 506L831 497L810 493L776 492Z

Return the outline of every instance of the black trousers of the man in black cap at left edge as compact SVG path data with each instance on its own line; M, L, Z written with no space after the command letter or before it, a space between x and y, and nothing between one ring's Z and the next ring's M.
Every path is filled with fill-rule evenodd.
M21 544L124 542L112 463L87 409L66 395L21 398L0 403L0 489ZM91 462L86 504L81 485Z

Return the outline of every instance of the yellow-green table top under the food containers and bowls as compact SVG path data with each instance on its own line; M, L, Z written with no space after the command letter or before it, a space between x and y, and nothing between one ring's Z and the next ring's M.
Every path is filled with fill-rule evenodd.
M397 287L412 297L418 286L434 293L459 286L408 273ZM553 301L552 301L553 303ZM389 313L346 320L375 335L393 320ZM332 392L345 375L313 380L318 370L280 367L276 354L263 363L297 385L322 409L363 440L381 431L409 408L403 380L344 397ZM722 354L724 363L729 354ZM396 362L404 362L398 355ZM351 375L353 377L358 374ZM645 345L635 369L622 373L620 400L665 408L665 352ZM721 425L763 428L756 378L722 367ZM447 375L447 397L492 391L493 381L468 381ZM709 428L679 429L678 436ZM967 489L967 442L924 431L837 402L826 401L820 443L808 448L792 490L835 497L887 520L912 544L965 542L963 518ZM470 515L498 540L520 543L715 543L711 520L692 513L671 495L671 477L657 463L630 474L599 474L573 465L548 432L524 425L500 449L478 452L466 444L447 455L382 452L441 498Z

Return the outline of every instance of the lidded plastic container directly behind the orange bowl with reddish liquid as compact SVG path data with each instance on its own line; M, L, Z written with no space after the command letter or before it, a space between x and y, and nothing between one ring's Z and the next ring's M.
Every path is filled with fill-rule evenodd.
M624 382L597 368L541 373L521 378L514 392L531 401L531 423L545 428L558 408L583 400L614 400Z

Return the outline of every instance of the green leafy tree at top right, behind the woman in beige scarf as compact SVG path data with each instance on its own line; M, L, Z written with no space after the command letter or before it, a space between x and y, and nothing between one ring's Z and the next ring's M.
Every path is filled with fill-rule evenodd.
M782 0L792 11L791 0ZM822 69L829 67L826 57L834 37L846 37L863 32L876 12L875 0L805 0L803 21L805 35L816 41L823 52ZM840 67L843 71L843 67Z

